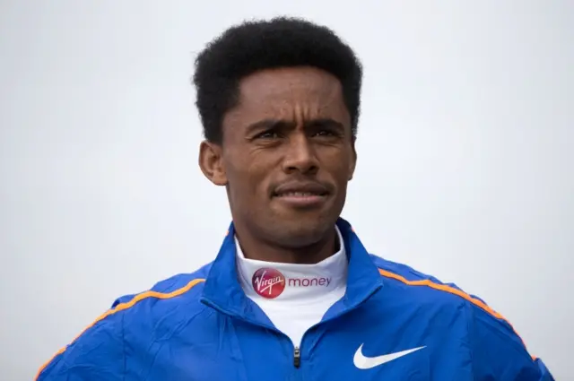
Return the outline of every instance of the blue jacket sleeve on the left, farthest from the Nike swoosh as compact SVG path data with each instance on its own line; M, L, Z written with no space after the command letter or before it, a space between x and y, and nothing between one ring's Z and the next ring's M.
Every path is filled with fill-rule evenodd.
M109 309L39 368L35 381L116 381L124 377L123 315Z

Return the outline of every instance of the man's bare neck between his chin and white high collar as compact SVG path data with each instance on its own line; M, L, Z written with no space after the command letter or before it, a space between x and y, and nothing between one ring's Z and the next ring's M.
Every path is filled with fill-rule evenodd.
M239 231L238 231L239 230ZM334 229L315 243L303 247L282 247L265 239L256 238L243 229L237 229L237 238L243 255L257 261L283 264L317 264L339 249Z

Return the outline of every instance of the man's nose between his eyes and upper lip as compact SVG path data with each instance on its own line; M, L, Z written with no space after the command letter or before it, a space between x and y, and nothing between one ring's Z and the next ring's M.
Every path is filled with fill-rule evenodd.
M293 134L286 145L287 152L283 160L285 173L317 173L319 167L316 152L305 134Z

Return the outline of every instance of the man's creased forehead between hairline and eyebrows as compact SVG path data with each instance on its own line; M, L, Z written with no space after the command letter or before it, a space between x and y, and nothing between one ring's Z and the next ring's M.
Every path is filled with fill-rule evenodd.
M290 67L264 70L243 78L239 82L238 105L224 117L223 126L233 126L238 131L241 126L269 118L324 117L344 126L351 125L341 82L317 68Z

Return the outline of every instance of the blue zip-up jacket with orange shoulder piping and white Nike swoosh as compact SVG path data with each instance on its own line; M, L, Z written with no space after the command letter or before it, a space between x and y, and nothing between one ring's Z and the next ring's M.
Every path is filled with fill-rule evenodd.
M553 380L481 299L370 255L346 221L337 225L347 292L300 348L241 290L231 224L213 263L117 299L37 379Z

